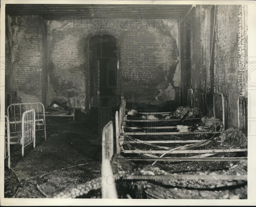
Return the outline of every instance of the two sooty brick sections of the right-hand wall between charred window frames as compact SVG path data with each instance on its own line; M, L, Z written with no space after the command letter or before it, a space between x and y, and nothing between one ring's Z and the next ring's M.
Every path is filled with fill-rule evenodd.
M206 77L202 68L202 22L204 8L197 6L189 15L191 19L191 81L194 88L204 86ZM216 91L227 97L238 96L238 15L239 5L218 5L216 18ZM201 25L201 26L200 26ZM200 37L201 36L201 37ZM205 66L204 66L205 67ZM211 76L211 78L213 78ZM233 104L234 101L230 101Z

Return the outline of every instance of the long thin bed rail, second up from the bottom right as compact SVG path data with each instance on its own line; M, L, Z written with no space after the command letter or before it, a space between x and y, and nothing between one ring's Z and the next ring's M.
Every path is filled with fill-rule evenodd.
M125 157L132 161L243 161L247 157Z

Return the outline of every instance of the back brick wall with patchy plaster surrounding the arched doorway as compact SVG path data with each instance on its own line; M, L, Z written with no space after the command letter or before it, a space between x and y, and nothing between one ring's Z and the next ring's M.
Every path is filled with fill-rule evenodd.
M159 21L158 21L159 22ZM176 24L176 22L175 22ZM157 25L157 22L156 22ZM49 93L74 97L78 107L84 106L88 86L89 54L87 40L94 34L110 34L118 37L119 68L130 62L138 69L136 85L119 87L128 100L138 90L137 96L164 96L174 100L174 87L178 86L178 32L176 29L84 29L74 28L72 21L47 21L49 47L49 76L52 90ZM141 73L142 72L142 73ZM125 74L130 82L134 79ZM136 87L138 86L138 87ZM122 88L122 89L121 89ZM60 95L61 94L61 95ZM94 94L97 95L97 94ZM88 99L87 99L88 100ZM135 100L136 101L136 98Z

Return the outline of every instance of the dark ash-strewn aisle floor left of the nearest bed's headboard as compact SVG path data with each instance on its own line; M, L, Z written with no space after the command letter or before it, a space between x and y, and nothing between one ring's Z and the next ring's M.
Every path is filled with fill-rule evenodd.
M92 144L99 135L97 114L85 115L78 111L76 121L67 117L47 117L46 133L37 132L36 148L11 145L11 168L5 166L4 196L7 198L45 198L100 176L101 143ZM94 117L94 118L93 118ZM101 140L100 140L101 141ZM72 167L74 165L85 164ZM70 167L70 168L67 168ZM61 168L67 168L58 170ZM56 172L51 172L55 171ZM46 174L40 178L41 175ZM96 192L98 193L98 192ZM89 197L95 197L88 194Z

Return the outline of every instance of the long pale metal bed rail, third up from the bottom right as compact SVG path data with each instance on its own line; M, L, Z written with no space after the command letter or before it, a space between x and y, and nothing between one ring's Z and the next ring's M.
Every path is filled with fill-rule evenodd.
M247 152L247 149L227 149L227 150L174 150L167 154L193 154L193 153L227 153L227 152ZM147 154L163 154L166 150L124 150L123 153L147 153Z

